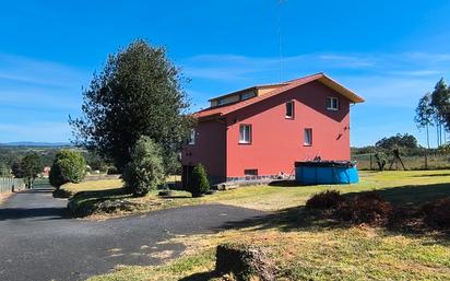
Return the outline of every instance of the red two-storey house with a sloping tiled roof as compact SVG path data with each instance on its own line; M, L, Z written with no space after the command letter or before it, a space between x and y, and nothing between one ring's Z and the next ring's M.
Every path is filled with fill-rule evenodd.
M323 73L210 99L182 151L212 184L292 174L294 162L350 160L350 107L364 99Z

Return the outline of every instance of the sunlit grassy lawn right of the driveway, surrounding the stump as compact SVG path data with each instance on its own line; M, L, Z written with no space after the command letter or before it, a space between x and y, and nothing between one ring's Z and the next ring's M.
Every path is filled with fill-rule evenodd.
M351 186L257 186L183 203L222 202L272 211L216 234L174 237L187 245L181 258L158 267L119 266L91 281L211 280L214 248L224 242L259 245L280 268L277 280L450 280L450 239L438 232L411 233L317 221L304 209L315 192L354 195L377 189L394 206L418 206L450 196L450 171L362 172ZM176 203L177 204L177 203Z

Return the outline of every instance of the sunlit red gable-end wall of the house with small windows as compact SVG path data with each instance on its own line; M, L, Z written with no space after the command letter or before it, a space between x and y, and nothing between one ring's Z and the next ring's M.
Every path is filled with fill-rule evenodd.
M327 96L340 98L340 110L327 109ZM285 103L295 102L294 119L285 118ZM239 144L239 125L251 124L251 144ZM227 116L227 177L291 174L295 161L350 160L350 102L320 82L245 107ZM312 128L312 145L304 145L304 129ZM213 157L214 155L208 155Z

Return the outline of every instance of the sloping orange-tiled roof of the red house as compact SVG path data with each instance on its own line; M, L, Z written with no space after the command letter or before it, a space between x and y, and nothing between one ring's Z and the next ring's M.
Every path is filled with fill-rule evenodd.
M264 94L264 95L259 95L249 99L245 99L241 102L237 102L237 103L233 103L233 104L226 104L223 106L214 106L214 107L209 107L205 108L203 110L197 112L193 114L194 118L213 118L213 117L218 117L218 116L224 116L227 115L229 113L236 112L238 109L241 109L244 107L250 106L252 104L259 103L261 101L264 101L267 98L270 98L272 96L282 94L288 90L295 89L297 86L304 85L306 83L312 82L312 81L318 81L331 89L333 89L334 91L336 91L338 93L342 94L343 96L347 97L351 102L353 103L364 103L364 98L358 96L357 94L355 94L353 91L346 89L345 86L341 85L340 83L338 83L336 81L334 81L333 79L329 78L328 75L325 75L324 73L317 73L317 74L312 74L312 75L308 75L308 77L304 77L304 78L299 78L299 79L295 79L292 81L287 81L285 83L281 83L279 85L281 85L280 87ZM252 86L252 87L248 87L246 89L246 91L251 90L251 89L257 89L258 86ZM239 93L241 91L237 91L234 92L232 94L236 94ZM225 95L228 96L228 95ZM215 99L215 98L213 98ZM211 101L211 99L210 99Z

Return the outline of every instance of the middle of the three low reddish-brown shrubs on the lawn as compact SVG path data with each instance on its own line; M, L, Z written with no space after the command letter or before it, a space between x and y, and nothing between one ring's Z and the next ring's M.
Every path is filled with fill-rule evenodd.
M386 224L392 214L392 204L375 191L356 196L340 206L338 215L353 223Z

